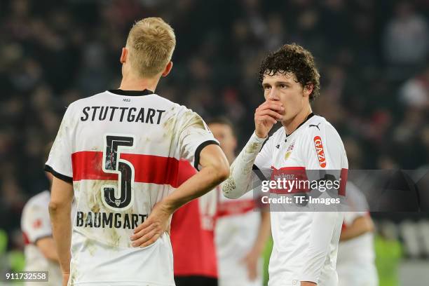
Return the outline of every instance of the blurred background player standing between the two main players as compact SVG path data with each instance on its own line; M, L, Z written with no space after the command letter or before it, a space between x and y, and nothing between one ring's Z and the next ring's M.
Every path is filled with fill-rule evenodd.
M217 117L207 121L226 158L232 163L236 158L236 134L227 118ZM218 190L219 191L219 190ZM261 254L270 235L270 213L257 211L252 192L236 200L219 192L216 238L219 286L261 286Z

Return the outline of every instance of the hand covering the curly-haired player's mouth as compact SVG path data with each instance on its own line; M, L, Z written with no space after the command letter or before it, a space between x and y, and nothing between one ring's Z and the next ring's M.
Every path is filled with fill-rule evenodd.
M259 105L254 112L254 127L257 137L267 137L273 125L281 120L283 111L285 109L278 101L267 100Z

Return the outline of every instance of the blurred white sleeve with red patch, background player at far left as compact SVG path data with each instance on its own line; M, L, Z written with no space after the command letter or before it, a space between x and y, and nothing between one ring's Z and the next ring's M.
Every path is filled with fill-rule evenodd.
M37 205L30 201L25 212L22 212L21 227L30 243L36 244L37 240L52 236L48 205Z

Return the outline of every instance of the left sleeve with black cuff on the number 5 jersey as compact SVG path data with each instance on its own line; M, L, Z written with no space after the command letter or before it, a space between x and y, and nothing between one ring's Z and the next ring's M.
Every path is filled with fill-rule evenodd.
M45 170L52 173L58 179L65 182L73 182L73 169L71 167L72 154L72 136L73 126L71 125L71 108L67 108L57 137L50 149L48 161L45 165Z

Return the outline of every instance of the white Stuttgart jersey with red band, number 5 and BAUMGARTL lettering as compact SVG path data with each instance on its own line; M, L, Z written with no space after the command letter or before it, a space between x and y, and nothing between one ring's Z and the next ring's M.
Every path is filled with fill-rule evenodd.
M150 90L109 90L70 104L46 170L73 182L69 285L175 285L164 233L144 248L132 230L177 187L179 159L198 168L218 144L195 112Z

